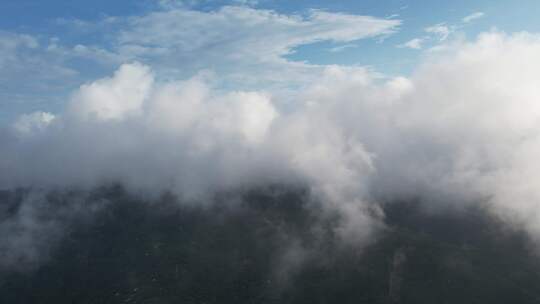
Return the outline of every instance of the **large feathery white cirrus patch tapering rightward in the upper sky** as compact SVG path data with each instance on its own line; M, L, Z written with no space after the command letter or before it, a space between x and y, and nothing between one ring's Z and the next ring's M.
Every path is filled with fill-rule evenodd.
M127 20L115 49L167 66L181 62L184 68L200 69L240 64L247 71L246 65L258 63L275 69L287 64L283 56L300 45L351 42L392 33L399 25L399 20L320 10L302 16L237 6L212 12L175 9Z

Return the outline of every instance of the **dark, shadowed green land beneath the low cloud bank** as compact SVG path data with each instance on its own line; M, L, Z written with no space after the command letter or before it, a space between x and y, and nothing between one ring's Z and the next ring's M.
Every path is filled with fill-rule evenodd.
M388 229L360 250L303 191L197 208L93 195L110 203L66 228L40 267L0 274L0 303L540 303L540 257L481 210L389 204Z

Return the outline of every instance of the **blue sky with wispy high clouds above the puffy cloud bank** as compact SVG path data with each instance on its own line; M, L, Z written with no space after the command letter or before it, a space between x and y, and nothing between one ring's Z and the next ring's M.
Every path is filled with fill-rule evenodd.
M321 66L408 76L437 45L493 29L540 30L534 0L3 0L0 7L0 123L58 112L81 84L126 62L148 64L162 79L210 73L218 87L279 91L305 84Z

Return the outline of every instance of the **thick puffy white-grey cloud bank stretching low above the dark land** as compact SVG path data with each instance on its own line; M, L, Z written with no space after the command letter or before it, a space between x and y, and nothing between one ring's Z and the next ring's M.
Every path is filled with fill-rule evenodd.
M327 67L288 106L269 91L224 91L200 75L163 81L126 64L47 124L4 132L0 186L121 182L195 202L294 184L357 244L384 222L380 203L413 197L487 204L540 240L538 54L537 35L484 33L430 54L410 78Z

